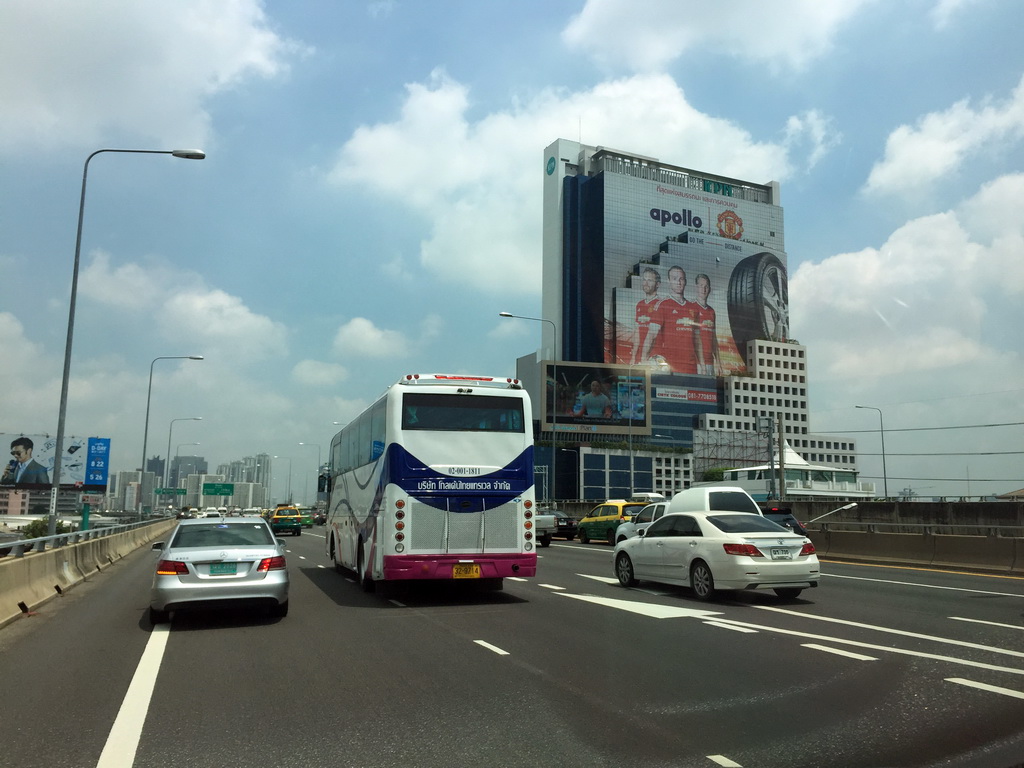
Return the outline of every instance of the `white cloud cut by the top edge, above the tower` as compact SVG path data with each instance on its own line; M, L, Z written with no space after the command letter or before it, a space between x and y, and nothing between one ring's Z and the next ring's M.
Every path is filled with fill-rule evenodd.
M828 51L843 23L869 2L588 0L562 40L605 66L639 72L664 68L694 48L800 70Z

